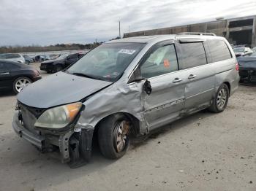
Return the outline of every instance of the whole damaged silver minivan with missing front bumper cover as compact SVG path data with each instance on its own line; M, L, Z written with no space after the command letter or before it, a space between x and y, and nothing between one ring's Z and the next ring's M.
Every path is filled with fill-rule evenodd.
M12 127L43 152L77 167L122 157L129 137L188 114L222 112L238 88L238 64L218 36L138 36L106 42L18 94Z

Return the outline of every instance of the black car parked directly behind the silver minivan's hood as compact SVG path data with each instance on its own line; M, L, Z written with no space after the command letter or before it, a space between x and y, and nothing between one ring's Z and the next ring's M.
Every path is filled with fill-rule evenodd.
M40 70L47 73L54 73L66 69L70 64L78 61L84 54L75 53L72 55L60 55L58 58L41 63Z

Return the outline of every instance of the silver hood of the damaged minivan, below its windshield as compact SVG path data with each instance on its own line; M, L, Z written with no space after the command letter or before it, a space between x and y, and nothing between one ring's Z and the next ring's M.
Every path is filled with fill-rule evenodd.
M49 108L80 101L111 84L112 82L78 77L60 71L25 87L18 93L17 98L27 106Z

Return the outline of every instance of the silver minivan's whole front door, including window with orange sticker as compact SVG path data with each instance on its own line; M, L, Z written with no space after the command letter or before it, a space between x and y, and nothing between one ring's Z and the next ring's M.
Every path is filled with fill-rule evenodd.
M184 72L178 71L175 44L160 42L140 63L140 73L151 82L151 94L142 94L148 129L176 120L184 109Z

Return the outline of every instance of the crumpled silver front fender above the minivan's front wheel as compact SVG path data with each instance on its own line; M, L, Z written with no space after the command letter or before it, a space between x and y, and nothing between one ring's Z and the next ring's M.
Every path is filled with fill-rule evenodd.
M132 114L142 122L140 133L146 132L146 127L143 127L142 90L143 82L134 82L127 85L124 79L120 79L83 103L86 108L80 114L78 126L83 125L87 128L94 128L100 120L110 114L124 112Z

